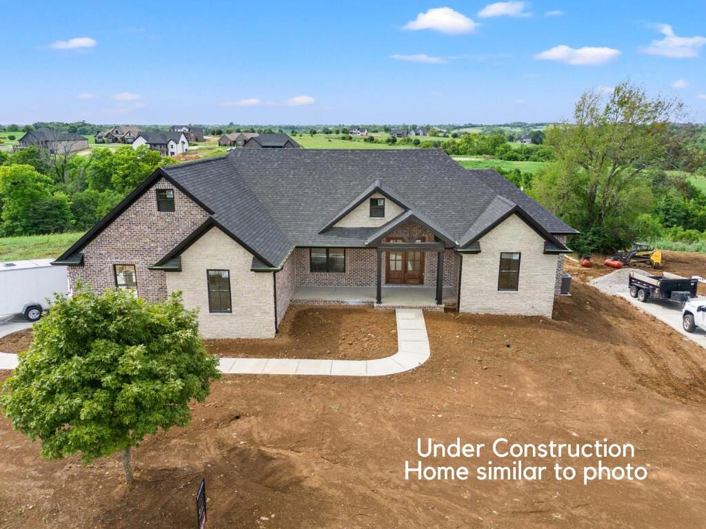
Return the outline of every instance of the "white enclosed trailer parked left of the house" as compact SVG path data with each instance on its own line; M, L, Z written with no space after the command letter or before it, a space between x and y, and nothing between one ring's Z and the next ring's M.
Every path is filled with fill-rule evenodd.
M35 322L54 293L68 293L66 267L52 266L52 261L0 262L0 314L23 314Z

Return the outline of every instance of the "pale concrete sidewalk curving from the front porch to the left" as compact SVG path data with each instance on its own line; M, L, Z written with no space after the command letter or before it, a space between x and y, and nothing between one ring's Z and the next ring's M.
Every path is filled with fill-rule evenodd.
M429 338L421 309L397 309L397 353L376 360L309 358L220 358L227 375L319 375L381 377L419 367L429 360ZM0 369L17 367L17 355L0 353Z

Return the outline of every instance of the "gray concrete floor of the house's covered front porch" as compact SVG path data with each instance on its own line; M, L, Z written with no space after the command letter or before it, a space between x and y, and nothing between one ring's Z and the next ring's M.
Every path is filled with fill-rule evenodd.
M376 286L297 286L290 303L294 305L373 305L378 308L424 308L443 310L455 307L453 288L442 289L442 303L436 303L436 287L381 286L381 303L377 303Z

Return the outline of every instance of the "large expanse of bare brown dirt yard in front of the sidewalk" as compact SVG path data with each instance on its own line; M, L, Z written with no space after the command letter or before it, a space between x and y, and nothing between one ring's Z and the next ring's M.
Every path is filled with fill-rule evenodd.
M130 488L119 456L88 467L78 458L44 461L38 444L1 418L0 528L192 528L202 477L209 529L704 525L700 347L581 278L573 296L559 298L554 320L453 312L425 318L431 358L412 372L223 377L194 406L189 427L149 437L135 451ZM497 437L606 437L634 444L633 463L650 475L585 486L407 482L405 461L417 461L417 437L486 445Z

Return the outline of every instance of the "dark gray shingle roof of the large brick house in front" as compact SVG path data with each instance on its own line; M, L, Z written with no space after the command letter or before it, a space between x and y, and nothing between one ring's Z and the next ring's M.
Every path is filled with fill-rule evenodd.
M441 150L239 149L162 171L275 267L293 246L364 246L377 228L319 231L376 180L454 241L485 222L498 195L549 233L575 233L494 171L463 169Z

